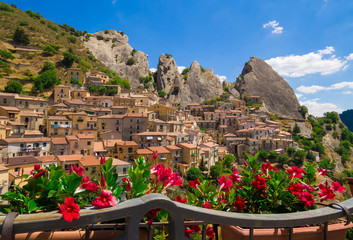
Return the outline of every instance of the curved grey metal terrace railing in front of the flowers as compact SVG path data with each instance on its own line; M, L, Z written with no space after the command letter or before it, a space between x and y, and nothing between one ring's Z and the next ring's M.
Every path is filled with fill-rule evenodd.
M137 240L139 239L139 227L142 218L152 209L165 209L169 213L169 239L187 239L184 235L185 225L207 224L235 225L249 229L249 239L253 239L256 228L288 228L289 239L293 238L293 228L323 223L323 239L327 239L328 222L338 218L346 217L349 223L353 212L353 199L346 200L331 207L316 210L286 213L286 214L245 214L233 212L221 212L190 206L174 202L160 194L148 194L141 198L119 203L115 207L95 209L89 207L81 210L81 216L72 223L61 219L56 212L36 213L18 215L10 213L0 217L1 239L11 239L17 233L31 233L37 231L53 231L62 229L73 229L77 227L92 226L92 224L109 222L117 219L125 219L124 233L117 239ZM18 216L17 216L18 215ZM184 219L195 219L200 222L188 223ZM158 225L158 223L156 223ZM101 224L104 227L104 224ZM119 225L119 224L115 224ZM159 223L163 225L163 223ZM99 225L97 225L99 226ZM99 227L97 227L99 228ZM89 234L89 228L87 234ZM91 228L91 230L94 228ZM89 235L87 235L89 236ZM152 236L150 235L150 239ZM206 234L203 231L203 239ZM87 238L88 239L88 238Z

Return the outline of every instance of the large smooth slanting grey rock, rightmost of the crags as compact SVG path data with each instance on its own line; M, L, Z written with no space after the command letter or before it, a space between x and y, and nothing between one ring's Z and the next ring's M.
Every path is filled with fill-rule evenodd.
M265 61L253 57L235 83L242 97L261 96L265 108L279 116L302 119L299 102L289 84Z

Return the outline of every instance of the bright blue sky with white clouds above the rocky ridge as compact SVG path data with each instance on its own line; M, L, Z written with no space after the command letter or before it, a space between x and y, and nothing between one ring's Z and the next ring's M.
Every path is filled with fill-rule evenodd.
M94 33L124 31L149 55L198 61L234 82L251 56L283 76L309 112L353 108L351 0L6 1L56 23Z

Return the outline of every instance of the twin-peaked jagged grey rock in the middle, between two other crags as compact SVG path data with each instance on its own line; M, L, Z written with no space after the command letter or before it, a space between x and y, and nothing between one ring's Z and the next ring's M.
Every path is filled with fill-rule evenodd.
M172 56L165 54L159 58L155 81L159 91L169 94L169 101L179 102L182 107L223 93L222 84L212 69L203 69L195 61L188 73L181 75Z

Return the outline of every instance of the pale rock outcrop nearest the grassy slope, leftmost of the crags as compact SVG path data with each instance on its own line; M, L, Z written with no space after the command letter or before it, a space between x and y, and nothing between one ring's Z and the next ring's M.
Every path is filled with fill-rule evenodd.
M98 40L97 36L104 39ZM84 45L120 77L129 79L132 87L140 84L140 77L148 75L148 56L141 51L134 52L129 44L129 38L123 33L115 30L96 32L88 41L84 41ZM133 64L131 64L133 60L129 60L131 58L135 61Z

